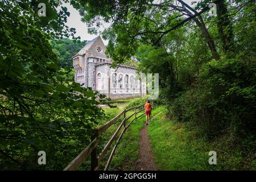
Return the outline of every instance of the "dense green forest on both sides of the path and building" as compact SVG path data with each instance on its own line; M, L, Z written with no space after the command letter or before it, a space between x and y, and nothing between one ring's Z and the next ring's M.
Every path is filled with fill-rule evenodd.
M86 44L65 25L59 1L0 2L0 169L62 170L90 142L102 118L97 92L71 78L71 57ZM79 10L89 32L109 40L114 65L139 60L143 73L159 73L158 105L188 123L201 138L239 150L255 164L256 6L253 0L84 1ZM60 7L60 8L58 8ZM72 38L72 39L71 39ZM77 94L79 93L79 94ZM38 165L46 151L47 165Z

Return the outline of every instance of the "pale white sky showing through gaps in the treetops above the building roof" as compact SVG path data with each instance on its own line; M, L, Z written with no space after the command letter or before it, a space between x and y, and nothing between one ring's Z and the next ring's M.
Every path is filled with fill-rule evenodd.
M192 1L199 1L199 0L184 0L185 3L188 3L188 5L191 5ZM76 28L76 34L75 36L80 36L81 40L92 40L96 38L98 35L91 35L88 34L88 27L86 26L86 23L81 22L81 16L79 14L79 11L74 9L69 3L63 3L63 6L67 7L70 16L67 19L66 25L72 28ZM103 24L104 27L101 27L100 30L104 30L104 28L108 28L110 26L109 23ZM103 39L102 39L103 40ZM108 40L103 40L104 44L108 44Z

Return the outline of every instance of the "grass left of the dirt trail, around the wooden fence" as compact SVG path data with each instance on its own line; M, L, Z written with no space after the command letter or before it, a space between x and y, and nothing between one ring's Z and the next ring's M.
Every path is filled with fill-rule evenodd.
M123 108L119 107L114 107L114 108L109 108L109 107L104 107L103 108L105 117L102 118L102 120L98 123L97 127L104 125L104 123L110 121L110 119L114 118L116 115L121 113ZM128 117L130 114L132 114L134 110L128 111L126 113L126 116ZM142 114L142 113L139 113ZM138 116L138 115L137 115ZM128 124L134 117L131 117L129 121L126 123ZM112 126L108 128L104 133L98 137L100 139L100 143L97 146L97 152L100 154L108 140L112 137L112 135L115 133L115 130L117 130L118 126L123 120L123 116L118 119L116 123L114 123ZM115 151L115 155L112 159L112 163L110 164L110 170L113 169L120 169L121 166L123 166L125 169L131 169L130 167L132 165L128 165L127 168L126 166L126 160L129 160L131 162L135 161L138 157L139 151L138 151L138 142L139 142L139 130L143 127L143 121L145 120L144 116L136 119L131 126L127 129L126 133L123 135L121 141L119 142L119 145L117 147L117 150ZM122 127L123 129L123 127ZM121 134L122 129L119 131L119 134ZM117 138L119 137L119 134ZM117 140L116 138L116 140ZM116 141L115 140L115 141ZM101 161L101 166L100 170L103 170L105 167L106 162L108 161L110 152L112 151L115 141L112 143L110 146L110 150L106 153L104 158ZM127 142L129 141L129 142ZM120 149L121 148L121 149ZM122 150L124 148L125 150ZM135 154L135 155L134 155ZM129 163L131 164L131 163ZM82 164L80 167L82 170L89 170L90 169L90 158L86 159L85 163Z

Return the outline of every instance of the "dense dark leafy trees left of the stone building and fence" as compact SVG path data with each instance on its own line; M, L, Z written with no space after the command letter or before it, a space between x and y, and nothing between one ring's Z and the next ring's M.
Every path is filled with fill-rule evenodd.
M38 15L37 1L0 2L0 168L5 170L62 170L89 142L102 115L91 99L95 93L65 81L71 68L61 69L84 46L73 36L75 29L65 26L67 7L44 3L47 16ZM57 48L55 42L70 37L80 44ZM38 165L39 151L46 152L47 166Z

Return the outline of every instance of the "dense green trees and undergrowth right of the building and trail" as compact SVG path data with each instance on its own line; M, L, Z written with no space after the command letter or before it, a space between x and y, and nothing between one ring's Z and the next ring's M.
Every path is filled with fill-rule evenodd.
M111 57L122 63L134 54L141 71L159 73L170 117L195 122L209 138L225 135L255 147L255 2L216 1L212 17L203 13L207 2L192 9L184 1L134 1L115 11L114 1L87 3L85 9L94 11L84 19L113 20L104 34Z

